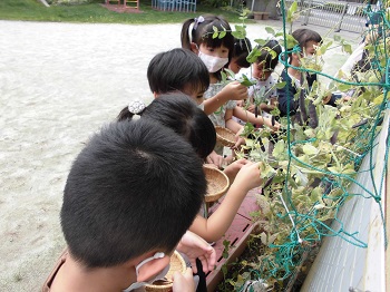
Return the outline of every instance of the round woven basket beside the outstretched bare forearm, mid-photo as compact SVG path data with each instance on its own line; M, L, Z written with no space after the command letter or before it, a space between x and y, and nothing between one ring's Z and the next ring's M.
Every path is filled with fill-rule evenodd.
M203 166L207 179L207 193L205 195L205 202L215 202L222 197L228 188L228 177L224 172L211 166Z

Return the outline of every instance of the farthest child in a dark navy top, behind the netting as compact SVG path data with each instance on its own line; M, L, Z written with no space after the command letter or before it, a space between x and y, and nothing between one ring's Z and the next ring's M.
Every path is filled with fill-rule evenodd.
M299 42L300 52L289 53L289 64L294 67L301 67L301 59L312 59L315 56L316 47L322 42L321 36L311 29L296 29L292 36ZM284 88L277 89L277 107L280 116L286 116L290 108L290 115L294 115L299 109L299 99L294 99L304 82L308 82L308 87L311 88L313 82L316 80L316 74L304 74L293 67L287 67L282 72L282 81L286 81ZM339 95L328 95L323 97L323 104L335 106L335 100ZM349 99L344 97L343 99ZM305 123L305 120L304 120Z

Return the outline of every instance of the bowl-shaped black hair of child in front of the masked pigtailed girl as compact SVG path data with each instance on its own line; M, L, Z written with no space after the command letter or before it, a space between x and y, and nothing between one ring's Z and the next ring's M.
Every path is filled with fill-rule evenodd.
M206 91L209 76L206 65L191 50L176 48L157 53L147 68L152 93L183 91L191 86L193 91Z

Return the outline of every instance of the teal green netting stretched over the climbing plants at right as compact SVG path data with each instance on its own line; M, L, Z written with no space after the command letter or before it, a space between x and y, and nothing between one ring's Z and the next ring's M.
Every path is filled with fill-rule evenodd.
M284 7L283 0L281 6ZM353 68L351 76L339 72L338 77L332 77L315 70L316 67L293 67L302 72L329 78L334 88L351 94L353 101L340 104L335 108L323 106L319 101L320 89L313 86L311 90L306 89L306 98L316 106L316 128L299 126L287 115L285 137L273 140L272 135L255 134L266 147L264 149L253 144L250 157L265 162L262 171L266 177L271 177L272 183L264 189L261 211L254 214L254 220L262 222L261 227L264 230L257 237L266 247L259 253L257 262L251 263L252 270L245 273L243 281L256 279L273 284L291 278L308 252L320 244L324 236L339 236L350 244L367 247L360 234L345 230L344 222L339 218L340 207L353 196L374 199L379 204L387 245L381 193L388 169L384 164L378 184L372 155L378 134L382 126L388 127L382 125L384 111L389 109L390 88L390 25L387 8L388 4L379 11L372 11L371 6L364 9L368 19L377 25L368 28L367 35L371 39L365 46L368 58ZM291 11L281 11L284 48L289 48L285 28L286 13ZM286 50L280 61L291 67L286 61L287 55L299 50L298 46ZM335 142L330 142L332 137ZM274 144L273 150L269 147L271 142ZM387 137L386 162L389 159L389 148L390 138ZM369 167L361 169L367 155ZM371 177L373 191L357 181L359 174ZM361 192L350 193L352 185L358 185ZM237 290L242 289L243 285Z

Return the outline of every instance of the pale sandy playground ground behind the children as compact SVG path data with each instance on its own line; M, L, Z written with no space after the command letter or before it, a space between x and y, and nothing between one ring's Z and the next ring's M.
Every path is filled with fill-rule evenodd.
M248 38L265 25L281 26L250 25ZM59 210L72 159L131 97L152 100L146 68L179 47L179 30L0 21L0 291L39 290L65 247ZM347 56L328 58L334 74Z

